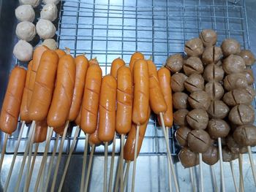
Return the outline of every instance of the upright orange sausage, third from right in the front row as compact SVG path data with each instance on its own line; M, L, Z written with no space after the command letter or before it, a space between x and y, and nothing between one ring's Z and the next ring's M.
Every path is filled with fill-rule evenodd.
M136 125L142 125L148 117L149 83L148 64L139 59L133 67L134 98L132 108L132 121Z

